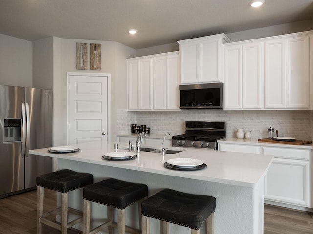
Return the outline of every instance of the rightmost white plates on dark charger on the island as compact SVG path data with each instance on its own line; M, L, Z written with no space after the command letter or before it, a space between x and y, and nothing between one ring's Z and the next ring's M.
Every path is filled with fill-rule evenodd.
M173 158L167 160L164 166L176 170L200 170L205 168L206 164L194 158Z

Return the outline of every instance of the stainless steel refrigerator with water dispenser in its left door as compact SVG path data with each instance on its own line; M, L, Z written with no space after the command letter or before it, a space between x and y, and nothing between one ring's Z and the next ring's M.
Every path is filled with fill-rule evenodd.
M28 154L52 146L52 92L0 85L0 198L36 187L52 171L50 157Z

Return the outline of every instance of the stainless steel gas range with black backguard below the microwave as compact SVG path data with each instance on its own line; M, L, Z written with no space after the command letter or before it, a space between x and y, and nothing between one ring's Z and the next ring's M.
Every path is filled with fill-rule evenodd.
M217 150L217 141L226 137L226 122L186 121L185 129L172 137L172 146Z

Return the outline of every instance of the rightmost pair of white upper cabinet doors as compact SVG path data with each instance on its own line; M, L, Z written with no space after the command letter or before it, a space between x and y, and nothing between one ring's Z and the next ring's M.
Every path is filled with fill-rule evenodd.
M309 41L308 33L265 41L266 109L310 108Z

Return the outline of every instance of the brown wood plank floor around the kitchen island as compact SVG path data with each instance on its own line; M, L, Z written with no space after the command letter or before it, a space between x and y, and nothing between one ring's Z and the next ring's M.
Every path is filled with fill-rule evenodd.
M36 190L0 199L0 234L36 234L36 199ZM44 212L52 210L56 204L56 193L45 190L44 200ZM68 234L78 233L68 231ZM43 234L60 232L43 225ZM264 234L313 234L311 213L266 205Z

